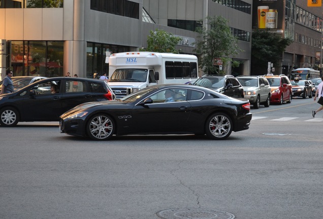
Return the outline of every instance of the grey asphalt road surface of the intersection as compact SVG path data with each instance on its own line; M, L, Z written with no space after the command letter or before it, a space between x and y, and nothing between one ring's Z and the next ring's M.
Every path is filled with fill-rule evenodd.
M317 107L293 99L251 109L250 129L222 141L92 141L59 133L57 123L0 127L0 218L159 218L156 212L173 208L238 219L321 218L323 113L311 116Z

